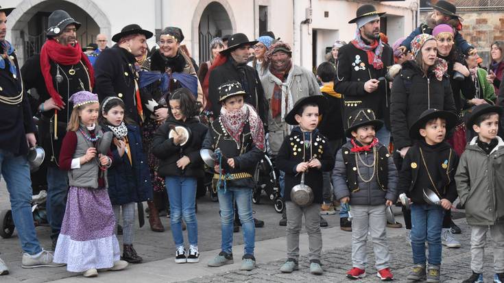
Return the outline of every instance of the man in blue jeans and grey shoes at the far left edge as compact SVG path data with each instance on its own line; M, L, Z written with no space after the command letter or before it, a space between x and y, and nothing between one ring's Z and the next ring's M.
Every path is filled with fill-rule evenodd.
M12 219L23 249L23 268L54 267L53 255L40 247L32 216L32 182L28 147L36 144L35 125L23 88L14 47L5 40L7 16L14 8L0 7L0 177L7 183ZM0 259L0 275L9 269Z

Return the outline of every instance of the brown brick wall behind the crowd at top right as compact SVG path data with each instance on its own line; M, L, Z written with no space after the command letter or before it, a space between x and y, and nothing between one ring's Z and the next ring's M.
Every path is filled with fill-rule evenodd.
M495 40L504 40L504 12L459 12L462 22L462 36L476 49L483 59L483 66L490 63L490 45ZM427 13L420 14L425 19Z

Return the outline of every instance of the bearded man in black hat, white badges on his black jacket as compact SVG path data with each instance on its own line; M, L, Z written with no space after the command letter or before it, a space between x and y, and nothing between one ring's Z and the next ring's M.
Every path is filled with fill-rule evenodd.
M389 82L385 79L387 66L394 64L392 48L381 42L380 16L373 5L362 5L357 17L348 23L357 23L355 38L341 47L338 53L334 82L336 93L344 95L344 119L357 108L370 108L376 119L385 122L376 132L383 145L390 141Z

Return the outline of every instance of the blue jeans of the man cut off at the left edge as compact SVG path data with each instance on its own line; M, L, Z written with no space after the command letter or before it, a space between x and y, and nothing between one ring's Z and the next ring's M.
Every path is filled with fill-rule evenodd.
M14 156L13 153L0 149L0 173L7 183L12 219L18 230L21 248L27 254L38 254L42 248L33 222L32 180L26 157Z

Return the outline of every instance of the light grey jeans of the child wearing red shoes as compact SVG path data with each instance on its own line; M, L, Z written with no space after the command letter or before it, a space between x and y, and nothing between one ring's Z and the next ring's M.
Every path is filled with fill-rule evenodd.
M373 243L376 269L389 267L389 246L387 243L387 219L385 204L381 206L352 206L352 267L365 269L368 264L366 243L368 233Z

